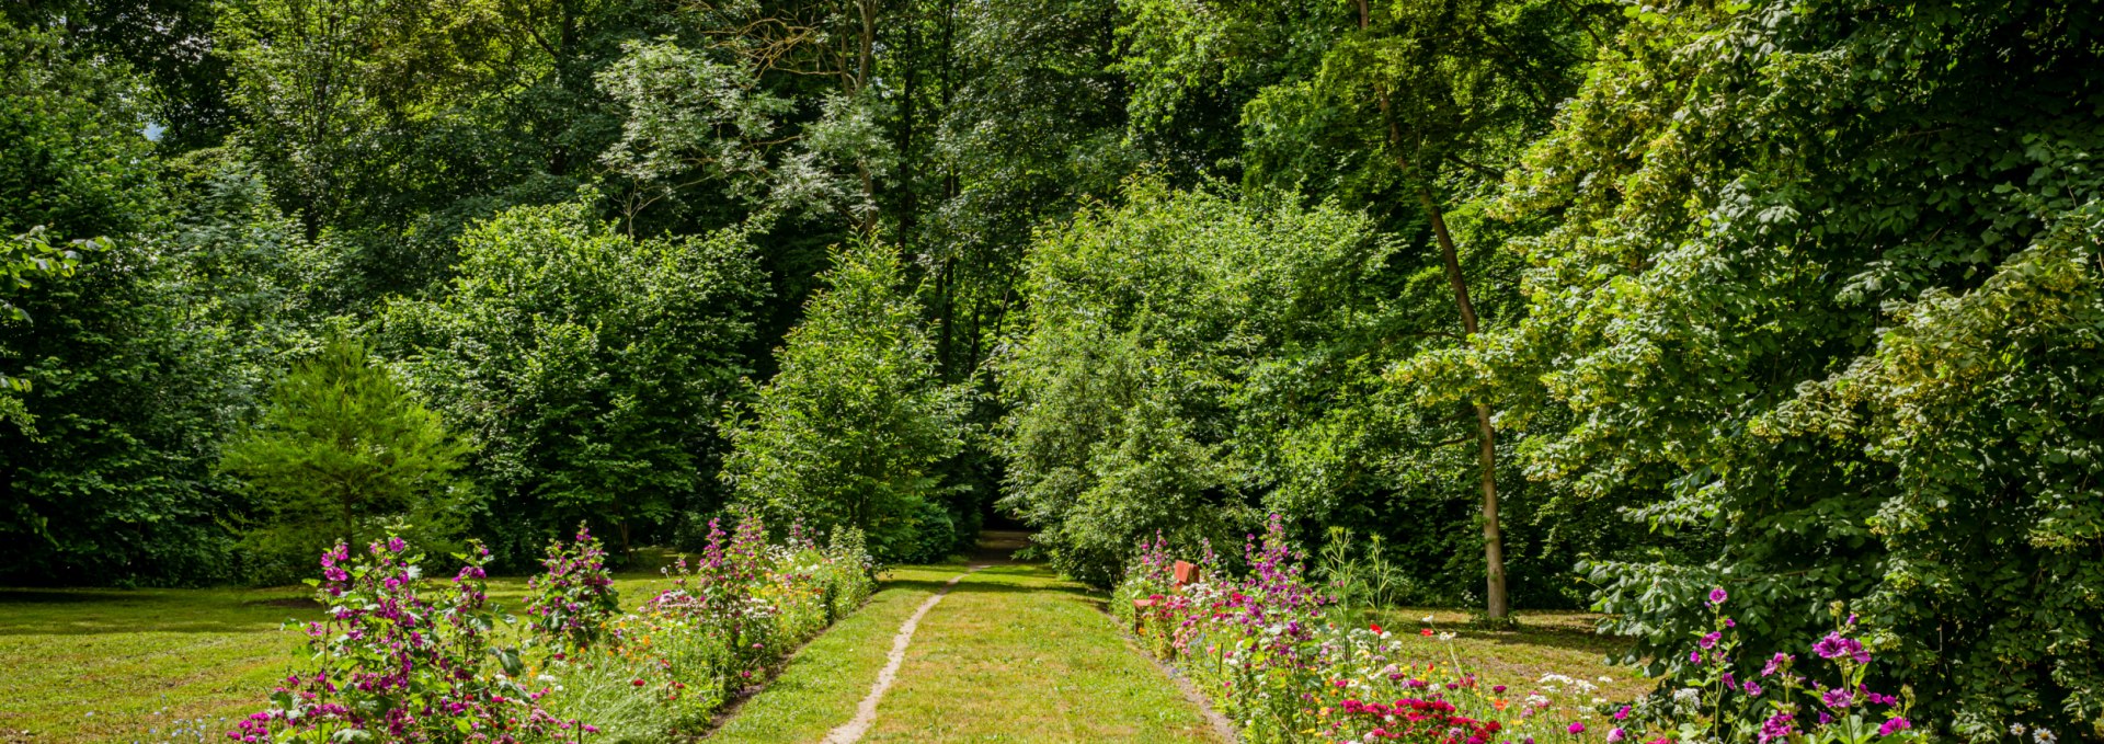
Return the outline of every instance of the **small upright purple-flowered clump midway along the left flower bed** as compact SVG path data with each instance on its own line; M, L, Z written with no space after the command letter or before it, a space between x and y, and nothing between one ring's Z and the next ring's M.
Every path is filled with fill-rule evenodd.
M591 530L576 525L576 540L549 542L547 570L526 582L526 614L534 631L562 652L589 647L606 620L621 612L621 593L606 572L606 549Z

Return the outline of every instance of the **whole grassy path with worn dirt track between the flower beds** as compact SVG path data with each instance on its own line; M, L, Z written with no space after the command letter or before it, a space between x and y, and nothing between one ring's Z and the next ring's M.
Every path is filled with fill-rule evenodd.
M980 542L970 565L886 572L709 740L1227 742L1098 593L1012 559L1020 534Z

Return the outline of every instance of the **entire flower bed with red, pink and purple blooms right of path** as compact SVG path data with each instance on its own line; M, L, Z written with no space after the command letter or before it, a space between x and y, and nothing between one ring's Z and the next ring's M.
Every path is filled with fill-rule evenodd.
M1176 586L1168 546L1159 538L1142 542L1111 605L1142 645L1176 662L1252 744L1864 744L1919 736L1904 717L1910 694L1864 687L1870 652L1852 637L1854 618L1812 649L1822 670L1830 670L1830 683L1801 675L1805 668L1788 654L1738 679L1736 622L1723 614L1727 595L1719 588L1711 595L1715 631L1690 639L1694 673L1666 681L1650 698L1610 704L1578 677L1490 685L1452 647L1445 658L1416 658L1378 624L1332 622L1344 614L1304 576L1304 555L1290 549L1279 517L1243 553L1248 576L1229 576L1206 546L1197 557L1201 580Z

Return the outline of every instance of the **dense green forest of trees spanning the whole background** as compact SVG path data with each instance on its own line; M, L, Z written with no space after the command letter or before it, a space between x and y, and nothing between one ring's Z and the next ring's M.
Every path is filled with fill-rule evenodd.
M2104 725L2100 23L13 2L0 582L732 507L1111 582L1281 513L1408 603L1845 601L1959 736Z

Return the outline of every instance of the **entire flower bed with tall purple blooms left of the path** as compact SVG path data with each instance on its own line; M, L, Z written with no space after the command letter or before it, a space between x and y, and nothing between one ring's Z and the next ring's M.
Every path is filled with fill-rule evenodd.
M286 677L238 742L654 742L709 721L736 689L858 607L875 582L861 534L768 544L747 517L711 523L673 588L619 612L604 551L583 530L549 551L528 622L499 612L473 546L427 586L400 538L337 544L316 582L328 620L305 626L313 666ZM509 631L509 633L507 633ZM513 641L513 643L501 643Z

